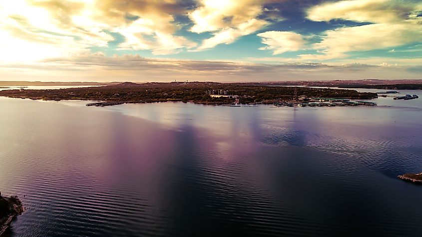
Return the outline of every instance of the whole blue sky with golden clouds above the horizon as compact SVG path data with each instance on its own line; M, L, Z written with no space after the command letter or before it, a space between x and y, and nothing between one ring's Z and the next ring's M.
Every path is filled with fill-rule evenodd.
M0 80L422 79L421 0L1 0Z

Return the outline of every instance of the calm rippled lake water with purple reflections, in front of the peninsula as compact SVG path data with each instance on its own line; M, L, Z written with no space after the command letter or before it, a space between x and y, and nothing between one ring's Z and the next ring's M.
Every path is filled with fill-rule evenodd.
M396 178L422 172L422 99L374 101L0 97L0 190L25 206L8 235L422 236L422 186Z

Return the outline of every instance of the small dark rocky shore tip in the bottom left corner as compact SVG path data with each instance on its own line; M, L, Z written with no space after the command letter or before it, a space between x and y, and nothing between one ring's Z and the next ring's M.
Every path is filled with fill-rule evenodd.
M7 198L0 193L0 236L9 228L13 218L22 213L22 202L17 196Z

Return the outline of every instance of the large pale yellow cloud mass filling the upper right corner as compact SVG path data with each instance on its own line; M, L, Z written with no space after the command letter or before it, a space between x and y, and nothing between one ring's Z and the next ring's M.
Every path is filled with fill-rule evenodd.
M422 41L422 10L417 1L343 0L311 7L314 21L346 19L369 24L341 27L322 33L313 45L322 54L302 55L303 59L327 60L347 57L349 52L401 46Z

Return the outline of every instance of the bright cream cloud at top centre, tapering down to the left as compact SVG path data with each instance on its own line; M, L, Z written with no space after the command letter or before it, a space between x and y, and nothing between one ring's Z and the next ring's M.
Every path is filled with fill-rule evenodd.
M195 51L232 43L267 25L266 20L258 19L265 10L263 4L263 0L199 0L200 6L188 13L194 23L190 31L213 32L213 36Z

